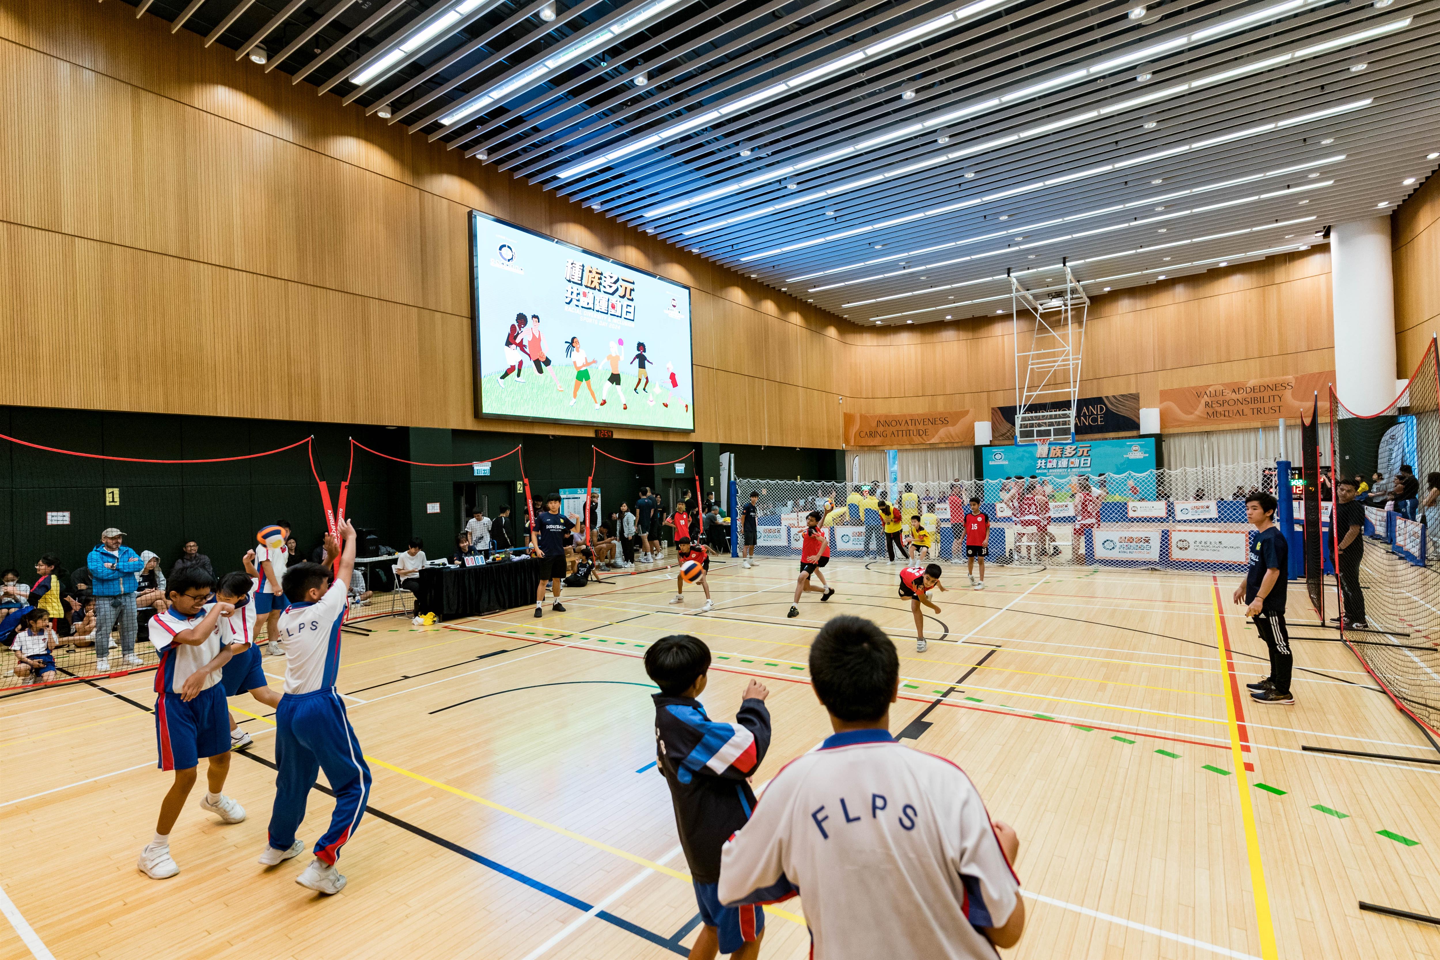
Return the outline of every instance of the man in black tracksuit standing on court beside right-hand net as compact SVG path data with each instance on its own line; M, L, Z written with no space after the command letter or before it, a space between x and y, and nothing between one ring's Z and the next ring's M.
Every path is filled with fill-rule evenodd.
M1246 616L1254 617L1256 632L1270 649L1270 676L1246 684L1260 704L1293 704L1290 671L1290 633L1284 629L1284 587L1290 570L1290 545L1274 525L1274 497L1254 492L1246 497L1246 520L1256 528L1250 544L1250 569L1246 581L1236 587L1236 603L1246 603Z

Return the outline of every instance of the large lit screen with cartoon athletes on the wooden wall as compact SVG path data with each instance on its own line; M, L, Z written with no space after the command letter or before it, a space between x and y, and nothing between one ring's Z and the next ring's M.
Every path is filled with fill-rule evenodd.
M688 286L475 210L471 253L481 416L696 429ZM523 374L501 380L517 361ZM634 393L641 363L649 389Z

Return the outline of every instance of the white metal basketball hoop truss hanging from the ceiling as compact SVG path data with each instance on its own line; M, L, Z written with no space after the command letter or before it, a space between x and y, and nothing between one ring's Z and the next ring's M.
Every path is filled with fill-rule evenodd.
M1070 269L1063 285L1025 289L1009 278L1011 330L1015 335L1015 443L1074 440L1080 399L1080 360L1090 298ZM1079 317L1077 317L1079 311ZM1024 324L1021 312L1025 314ZM1028 327L1028 331L1022 330ZM1028 350L1021 350L1028 332ZM1025 363L1021 377L1021 358ZM1068 404L1068 406L1061 406Z

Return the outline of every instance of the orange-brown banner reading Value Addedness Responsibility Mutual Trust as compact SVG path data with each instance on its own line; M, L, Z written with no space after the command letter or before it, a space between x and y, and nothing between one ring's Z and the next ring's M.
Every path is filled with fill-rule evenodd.
M1280 417L1299 420L1302 413L1310 416L1316 391L1320 396L1320 416L1329 417L1329 384L1333 381L1335 371L1326 370L1161 390L1161 429L1246 426L1273 423Z

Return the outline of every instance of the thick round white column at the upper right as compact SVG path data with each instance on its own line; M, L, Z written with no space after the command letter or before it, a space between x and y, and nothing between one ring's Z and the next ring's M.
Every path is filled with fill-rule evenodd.
M1364 416L1395 399L1395 288L1390 217L1331 227L1335 393Z

